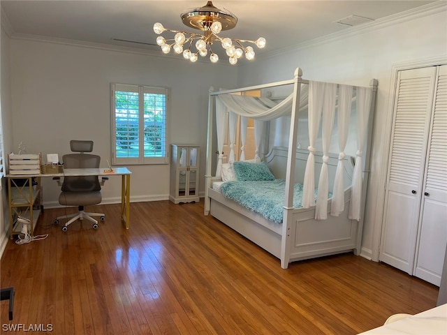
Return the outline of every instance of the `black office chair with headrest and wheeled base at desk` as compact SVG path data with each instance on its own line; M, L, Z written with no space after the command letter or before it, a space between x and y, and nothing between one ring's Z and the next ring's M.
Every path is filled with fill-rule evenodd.
M80 169L80 168L99 168L101 157L93 154L85 154L93 151L93 141L70 141L71 151L77 154L66 154L62 157L64 169ZM68 230L68 225L76 220L87 219L93 223L94 229L98 228L98 221L91 216L99 216L101 221L105 220L103 213L87 213L84 206L99 204L101 198L101 186L108 179L103 177L101 182L98 176L66 176L61 183L60 177L54 177L57 184L61 187L59 195L59 204L64 206L78 206L78 213L59 216L54 219L54 223L58 224L61 218L70 218L62 227L62 231Z

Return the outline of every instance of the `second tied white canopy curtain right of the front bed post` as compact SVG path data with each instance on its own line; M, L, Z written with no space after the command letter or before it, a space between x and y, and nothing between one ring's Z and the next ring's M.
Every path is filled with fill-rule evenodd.
M326 84L323 99L323 165L321 165L320 179L318 181L318 195L316 198L315 218L325 220L328 218L328 163L330 137L335 117L335 101L337 98L337 84Z

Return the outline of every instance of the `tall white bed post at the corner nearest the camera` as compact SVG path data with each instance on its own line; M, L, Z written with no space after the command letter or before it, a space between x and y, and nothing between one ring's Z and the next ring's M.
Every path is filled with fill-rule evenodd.
M293 80L293 103L291 114L291 130L288 139L287 170L286 170L286 189L284 192L284 215L281 231L281 267L288 268L290 262L290 244L291 228L293 224L293 186L295 184L295 158L296 142L298 138L298 114L300 111L301 83L298 82L302 77L301 68L297 68Z

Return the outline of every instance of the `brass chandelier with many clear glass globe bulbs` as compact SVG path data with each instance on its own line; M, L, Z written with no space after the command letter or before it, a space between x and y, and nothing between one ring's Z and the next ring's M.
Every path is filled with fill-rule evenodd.
M160 35L163 31L170 31L170 33L175 34L174 38L170 39L166 39L163 36L156 38L156 44L161 47L165 54L168 54L173 49L176 54L183 54L185 59L189 59L192 62L197 61L199 55L206 57L210 54L210 61L216 63L219 61L219 56L212 51L211 46L214 42L219 42L223 49L226 50L230 64L235 65L237 59L240 59L244 54L246 59L254 59L253 47L251 45L246 47L244 44L252 43L259 48L265 47L265 38L263 37L257 40L240 40L219 36L222 30L233 29L236 26L237 17L228 10L214 7L212 1L208 1L203 7L188 10L182 13L180 17L186 26L199 29L203 31L203 34L167 29L160 22L156 22L154 24L155 34ZM196 50L191 50L193 45L196 47Z

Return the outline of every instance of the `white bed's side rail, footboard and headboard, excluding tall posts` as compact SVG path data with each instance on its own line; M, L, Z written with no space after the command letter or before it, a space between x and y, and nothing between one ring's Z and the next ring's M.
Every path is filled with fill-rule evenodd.
M281 171L281 165L287 161L287 148L274 148L267 156L270 170L275 177ZM303 166L298 169L298 175L295 181L302 184L304 177L304 167L306 166L307 156L306 150L297 150L296 164ZM344 181L346 184L352 179L353 163L351 157L345 158ZM322 154L316 153L316 170L321 166ZM330 177L335 176L338 158L330 156L328 170ZM282 168L284 170L284 167ZM331 179L331 178L330 178ZM214 178L214 180L220 180ZM330 190L332 191L332 190ZM293 209L290 213L292 216L291 225L284 223L274 223L263 218L260 214L256 214L249 209L237 204L237 202L225 198L219 191L208 190L210 196L210 214L219 221L225 223L233 230L239 232L247 239L261 246L266 251L281 259L281 241L283 225L286 227L288 237L290 237L290 247L288 250L288 261L285 262L283 268L288 266L288 262L295 260L305 260L317 256L330 255L334 253L344 253L354 251L356 255L360 253L361 236L358 236L360 222L349 220L349 200L351 196L351 188L345 188L344 202L345 209L338 217L328 214L327 220L315 220L315 207L309 209ZM328 202L328 213L330 212L330 200ZM281 265L282 266L282 265Z

